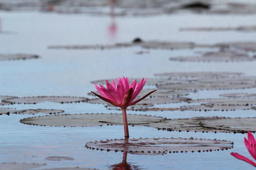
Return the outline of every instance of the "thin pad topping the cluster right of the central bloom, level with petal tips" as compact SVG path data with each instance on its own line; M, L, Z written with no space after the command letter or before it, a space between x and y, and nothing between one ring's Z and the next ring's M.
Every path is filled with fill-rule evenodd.
M168 79L177 78L195 78L197 79L211 79L211 78L225 78L225 77L237 77L243 73L239 72L173 72L173 73L158 73L155 76L168 77Z

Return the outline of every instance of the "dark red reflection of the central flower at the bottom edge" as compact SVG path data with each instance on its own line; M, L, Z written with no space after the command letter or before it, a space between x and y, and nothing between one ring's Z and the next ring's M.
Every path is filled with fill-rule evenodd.
M119 164L110 166L110 169L112 169L112 170L140 170L141 168L127 163L127 152L124 152L122 162Z

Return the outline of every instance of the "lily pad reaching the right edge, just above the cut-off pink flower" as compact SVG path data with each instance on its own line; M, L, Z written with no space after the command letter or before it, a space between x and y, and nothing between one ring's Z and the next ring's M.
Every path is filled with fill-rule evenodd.
M256 132L256 118L227 118L227 117L194 117L166 119L161 122L148 124L167 131L195 132Z

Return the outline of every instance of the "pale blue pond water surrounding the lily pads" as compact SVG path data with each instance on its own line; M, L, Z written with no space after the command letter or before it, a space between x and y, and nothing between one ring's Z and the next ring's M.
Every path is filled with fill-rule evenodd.
M170 57L193 55L189 50L145 50L140 46L107 50L52 50L50 45L110 45L131 42L140 37L157 41L192 41L214 44L228 41L255 41L255 32L180 32L180 27L230 27L255 25L255 15L157 15L118 17L115 35L109 34L111 18L82 14L40 12L0 12L0 53L35 53L39 59L0 62L0 95L8 96L82 96L95 90L93 80L128 77L153 77L156 73L186 71L239 71L256 75L252 62L175 62ZM6 33L7 32L7 33ZM212 50L212 49L204 49ZM227 92L256 93L255 89L202 90L189 94L193 99L218 97ZM161 104L159 106L180 106ZM49 108L65 113L118 113L104 105L88 103L38 103L1 106L17 109ZM129 113L139 113L129 111ZM143 114L167 118L197 116L255 117L246 111L147 111ZM40 114L39 114L40 115ZM43 115L43 114L42 114ZM37 115L36 115L37 116ZM123 138L122 126L104 127L37 127L20 124L31 115L0 116L0 163L46 163L37 169L53 167L90 167L111 169L122 162L123 153L88 150L86 142ZM205 153L171 153L167 155L127 155L127 162L138 169L254 169L230 155L238 152L250 157L244 144L246 134L167 132L149 127L129 127L131 138L207 138L234 141L232 150ZM73 157L74 160L50 161L46 157Z

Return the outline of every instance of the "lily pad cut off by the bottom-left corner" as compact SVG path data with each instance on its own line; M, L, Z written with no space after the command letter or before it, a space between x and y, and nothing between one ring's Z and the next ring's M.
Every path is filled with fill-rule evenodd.
M0 163L0 169L15 169L15 170L25 170L25 169L33 169L36 167L41 167L41 166L45 166L46 164L27 164L27 163L16 163L16 162L12 162L12 163Z

